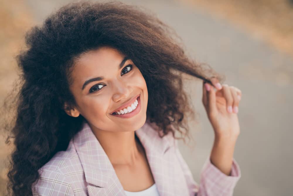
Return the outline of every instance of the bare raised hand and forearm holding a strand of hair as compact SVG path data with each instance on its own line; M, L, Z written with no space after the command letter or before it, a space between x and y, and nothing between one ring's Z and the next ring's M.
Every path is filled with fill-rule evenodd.
M210 160L219 170L230 175L234 148L240 134L237 113L241 91L234 86L221 85L216 78L211 81L213 86L204 82L202 86L202 103L215 133Z

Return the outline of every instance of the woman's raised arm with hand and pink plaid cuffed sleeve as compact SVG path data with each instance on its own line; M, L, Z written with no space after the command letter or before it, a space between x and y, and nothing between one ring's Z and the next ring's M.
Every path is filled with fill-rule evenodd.
M202 186L198 195L232 195L240 178L233 152L240 133L237 113L241 91L234 86L221 85L214 77L211 83L203 82L202 103L213 127L215 140L211 156L202 170Z

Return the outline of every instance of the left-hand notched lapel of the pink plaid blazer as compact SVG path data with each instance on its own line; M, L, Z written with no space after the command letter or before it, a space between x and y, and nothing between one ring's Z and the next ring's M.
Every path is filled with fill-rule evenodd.
M113 195L113 192L126 196L113 165L87 122L73 140L84 169L89 196ZM115 187L109 188L109 182L115 183Z

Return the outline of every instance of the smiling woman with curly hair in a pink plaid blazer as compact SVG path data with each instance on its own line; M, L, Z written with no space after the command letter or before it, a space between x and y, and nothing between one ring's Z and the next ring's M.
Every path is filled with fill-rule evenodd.
M241 176L233 158L241 91L221 86L172 35L119 2L68 4L26 34L13 195L232 195ZM188 137L186 116L194 118L182 73L203 80L215 133L200 184L175 137Z

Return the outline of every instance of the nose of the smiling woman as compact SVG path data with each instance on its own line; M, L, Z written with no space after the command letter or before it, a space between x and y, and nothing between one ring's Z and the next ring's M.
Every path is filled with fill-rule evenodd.
M116 80L113 82L113 101L118 102L121 99L129 98L131 90L127 82Z

